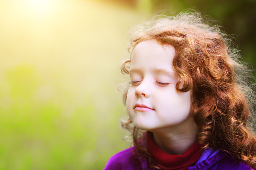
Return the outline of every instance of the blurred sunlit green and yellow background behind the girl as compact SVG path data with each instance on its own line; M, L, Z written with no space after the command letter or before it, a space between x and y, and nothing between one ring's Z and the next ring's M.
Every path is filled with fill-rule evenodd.
M130 147L117 85L128 31L193 8L256 68L255 0L0 0L0 169L103 169Z

